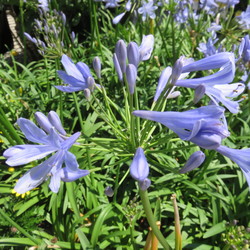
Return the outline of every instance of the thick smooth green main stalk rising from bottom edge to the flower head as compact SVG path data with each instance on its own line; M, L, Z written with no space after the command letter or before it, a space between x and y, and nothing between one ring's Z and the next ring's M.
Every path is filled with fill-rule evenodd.
M163 246L165 250L170 249L169 244L167 243L166 239L164 238L158 226L156 225L156 220L154 218L154 215L150 206L150 202L148 199L148 192L140 190L140 197L141 197L142 206L146 214L148 223L150 227L152 228L154 235L157 237L157 239L159 240L159 242L161 243L161 245Z

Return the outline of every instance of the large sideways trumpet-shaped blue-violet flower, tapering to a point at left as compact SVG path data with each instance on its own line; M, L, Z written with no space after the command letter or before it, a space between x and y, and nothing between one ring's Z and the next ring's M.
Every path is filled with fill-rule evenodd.
M229 136L223 123L224 109L209 105L184 112L134 111L135 116L160 122L173 130L182 140L191 141L205 149L215 149Z

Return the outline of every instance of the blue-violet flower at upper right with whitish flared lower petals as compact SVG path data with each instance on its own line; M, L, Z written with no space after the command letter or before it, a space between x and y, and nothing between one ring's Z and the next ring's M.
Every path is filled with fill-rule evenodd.
M176 86L197 88L203 84L206 88L205 94L218 105L219 102L224 104L231 113L239 111L239 104L232 98L240 95L245 86L242 83L228 84L233 81L235 74L234 54L229 52L221 52L206 57L199 61L190 63L183 67L182 72L200 71L220 68L214 74L193 79L183 79L176 82Z

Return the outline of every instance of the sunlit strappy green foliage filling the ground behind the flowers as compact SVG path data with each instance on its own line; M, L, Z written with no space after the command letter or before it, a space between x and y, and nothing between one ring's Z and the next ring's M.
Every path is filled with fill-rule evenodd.
M153 55L149 61L139 65L136 82L139 97L136 105L140 109L149 109L164 68L173 66L181 55L195 60L203 57L197 47L210 37L206 29L214 18L201 11L198 22L190 20L190 25L183 28L173 21L170 10L164 9L155 23L131 21L131 13L127 13L124 23L114 26L112 18L118 12L105 9L103 3L53 0L50 5L57 10L65 10L68 18L65 47L55 53L52 46L50 53L42 59L27 64L18 62L14 56L9 60L0 58L1 150L29 143L15 125L18 118L34 121L36 111L47 114L54 110L60 115L68 134L82 131L78 144L73 145L70 151L76 156L79 167L90 170L91 174L75 182L62 182L57 194L49 190L47 180L24 198L16 197L12 194L16 180L40 161L16 167L11 172L1 157L0 209L6 217L0 216L0 246L35 246L35 239L41 249L46 246L61 249L142 249L149 224L138 198L138 186L129 175L135 148L141 143L150 165L152 184L148 190L149 200L170 246L174 248L175 244L175 216L170 199L175 193L185 249L229 249L233 245L238 249L246 248L250 240L249 189L239 167L215 151L204 150L206 161L203 165L181 175L178 171L199 147L176 138L161 125L143 123L142 120L139 128L148 126L150 133L144 135L145 140L136 138L138 145L133 144L129 97L123 83L118 81L112 60L119 39L140 44L143 34L154 33ZM25 8L28 13L31 8L29 1ZM50 15L53 16L52 11ZM89 27L77 30L85 19ZM232 44L239 44L245 31L239 29L235 18L222 22L216 46L221 44L229 51ZM28 26L32 25L26 24ZM69 42L71 30L76 30L79 38L72 43ZM40 36L42 39L43 34ZM57 70L62 69L62 53L67 53L74 63L82 61L89 66L95 56L101 58L102 79L95 80L103 87L95 90L90 101L85 99L82 91L74 96L53 87L62 84L57 75ZM92 68L91 71L94 75ZM190 73L189 77L207 74ZM237 68L235 81L240 81L241 77L242 72ZM193 91L179 90L181 96L169 99L164 110L185 111L190 108ZM208 102L208 98L203 98L193 106L204 106ZM106 106L102 106L103 103ZM231 136L224 140L225 145L249 147L248 104L244 100L240 104L242 111L227 114ZM139 134L138 128L135 132ZM113 188L113 197L105 195L107 186ZM5 218L12 219L20 228ZM226 224L226 221L233 220L239 221L241 226Z

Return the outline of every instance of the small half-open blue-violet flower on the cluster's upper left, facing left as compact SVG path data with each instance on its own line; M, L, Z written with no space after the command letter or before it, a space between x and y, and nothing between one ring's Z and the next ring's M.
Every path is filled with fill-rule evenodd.
M87 64L83 62L74 64L67 55L62 56L61 62L66 72L58 70L57 73L67 86L54 87L63 92L75 92L89 88L88 78L93 77Z

